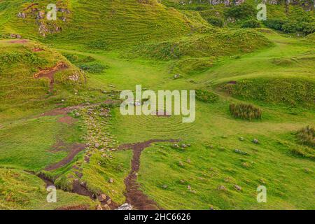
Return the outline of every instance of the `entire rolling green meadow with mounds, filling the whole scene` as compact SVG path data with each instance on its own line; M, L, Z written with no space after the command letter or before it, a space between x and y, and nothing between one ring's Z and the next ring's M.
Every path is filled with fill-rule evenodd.
M315 209L314 1L181 2L0 0L0 209L139 209L132 175L160 209ZM123 116L136 85L195 121Z

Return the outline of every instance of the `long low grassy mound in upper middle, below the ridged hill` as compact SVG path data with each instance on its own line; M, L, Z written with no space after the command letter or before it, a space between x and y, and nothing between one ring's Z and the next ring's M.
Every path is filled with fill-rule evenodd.
M195 35L178 41L165 41L139 45L135 51L155 59L180 59L182 57L218 57L253 52L271 43L255 31L214 30L214 34ZM133 50L134 52L134 50Z

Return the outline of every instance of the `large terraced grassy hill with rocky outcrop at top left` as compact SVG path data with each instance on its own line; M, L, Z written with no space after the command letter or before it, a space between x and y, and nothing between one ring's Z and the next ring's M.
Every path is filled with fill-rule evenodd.
M125 48L126 45L143 41L161 41L181 36L188 34L196 25L179 11L166 8L155 0L63 0L57 3L57 8L60 8L57 20L49 22L35 18L41 11L47 13L45 8L50 1L0 3L0 8L3 8L9 18L0 19L0 31L3 33L17 32L26 38L43 38L44 33L46 41L58 41L58 45L66 45L67 41L71 41L100 50ZM35 14L24 11L34 3L36 6L31 8L38 9ZM26 18L18 18L19 12L25 12ZM38 32L40 27L41 33Z

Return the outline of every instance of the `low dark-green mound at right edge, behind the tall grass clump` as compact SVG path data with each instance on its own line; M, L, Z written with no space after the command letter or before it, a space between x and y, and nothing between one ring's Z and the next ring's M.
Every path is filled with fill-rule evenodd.
M315 81L311 78L256 78L225 84L235 97L289 106L314 107Z

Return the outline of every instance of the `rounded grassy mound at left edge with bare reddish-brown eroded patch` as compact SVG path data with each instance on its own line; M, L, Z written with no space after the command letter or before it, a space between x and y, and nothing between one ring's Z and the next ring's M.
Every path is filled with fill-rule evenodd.
M81 89L85 83L85 75L76 66L45 45L27 40L3 40L0 47L1 112L22 105L27 109L36 108L45 104L44 97L60 97L63 92ZM59 63L66 69L55 72L53 83L48 77L35 77L36 73Z

